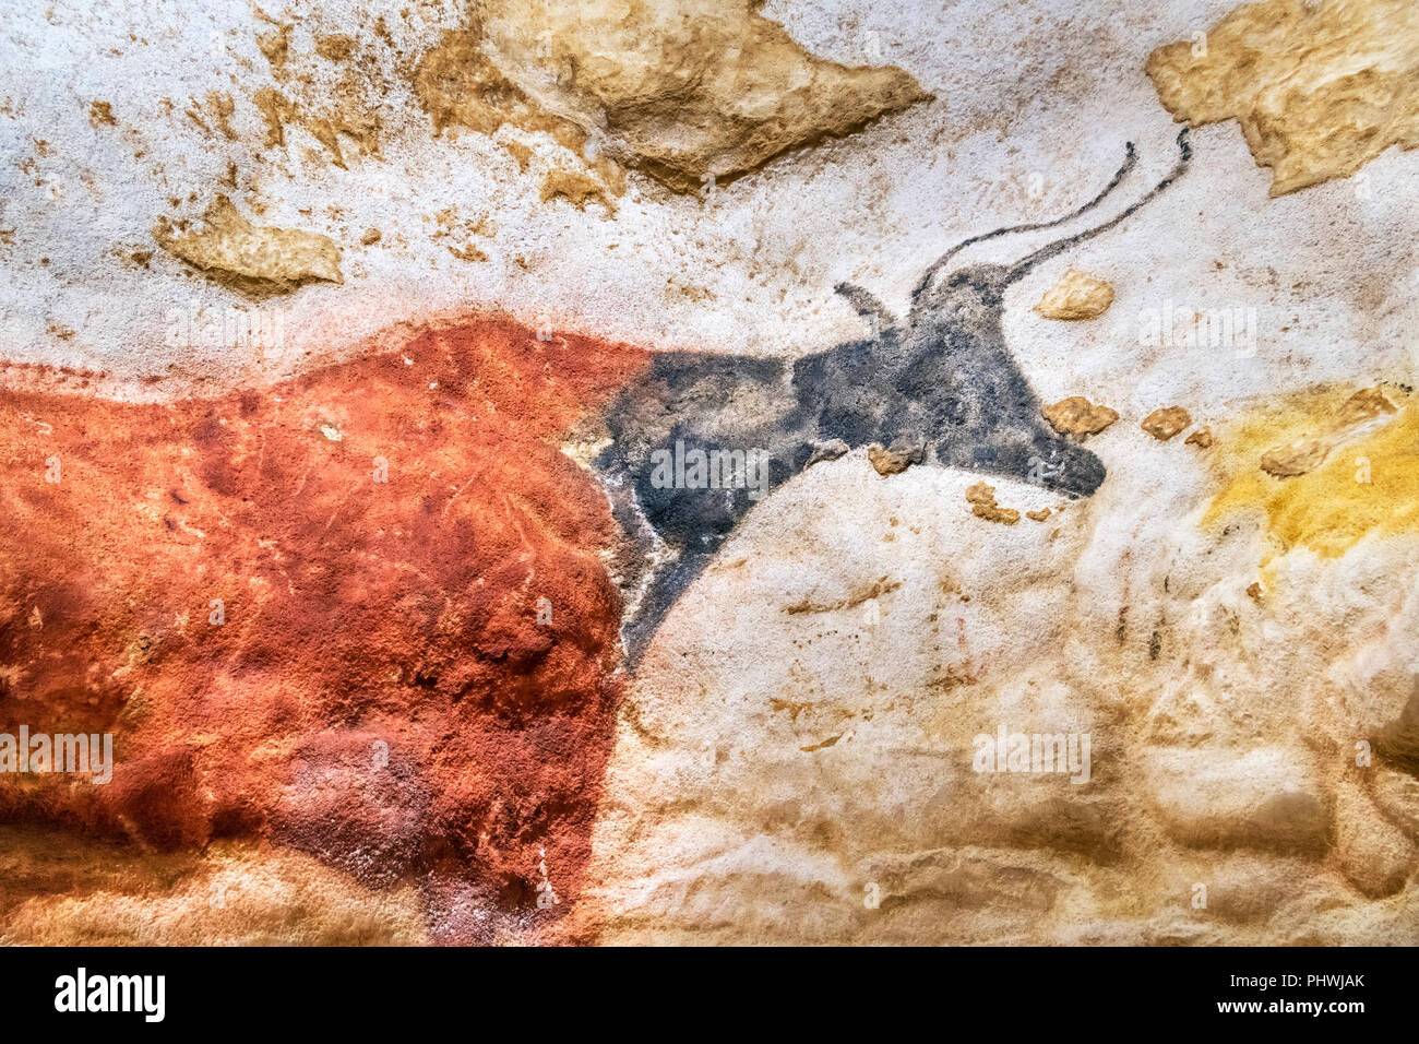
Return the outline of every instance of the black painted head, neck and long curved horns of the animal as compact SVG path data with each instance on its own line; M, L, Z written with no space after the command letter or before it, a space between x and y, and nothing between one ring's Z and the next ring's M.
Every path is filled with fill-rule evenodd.
M1132 170L1131 142L1114 179L1073 213L955 246L921 277L905 322L866 290L839 284L871 325L863 341L792 365L656 354L648 375L609 408L612 442L595 460L630 544L622 555L629 607L622 638L631 666L749 509L816 460L877 443L911 462L1025 479L1070 497L1098 489L1103 462L1047 425L1005 344L1005 291L1164 192L1191 159L1186 131L1178 146L1168 176L1130 207L1015 264L946 270L973 243L1050 229L1097 207Z

